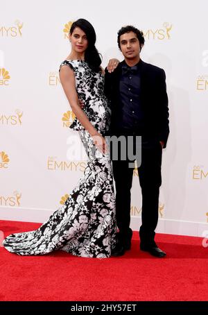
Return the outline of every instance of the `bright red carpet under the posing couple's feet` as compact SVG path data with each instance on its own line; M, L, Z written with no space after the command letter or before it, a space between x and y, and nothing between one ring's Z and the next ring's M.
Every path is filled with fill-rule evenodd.
M34 230L39 223L0 221L4 236ZM157 234L167 257L132 249L122 257L82 258L56 251L18 256L1 247L1 301L208 300L208 248L200 237Z

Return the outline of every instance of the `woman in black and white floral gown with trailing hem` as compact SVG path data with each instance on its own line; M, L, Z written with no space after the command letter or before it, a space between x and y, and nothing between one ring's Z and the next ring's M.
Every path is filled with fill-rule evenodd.
M101 58L96 33L85 19L71 25L71 53L60 65L60 81L76 115L89 160L84 177L67 201L39 229L9 235L3 246L18 255L44 255L53 250L82 257L110 257L116 243L114 188L104 135L110 109L103 92ZM84 110L79 99L85 103Z

